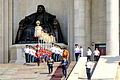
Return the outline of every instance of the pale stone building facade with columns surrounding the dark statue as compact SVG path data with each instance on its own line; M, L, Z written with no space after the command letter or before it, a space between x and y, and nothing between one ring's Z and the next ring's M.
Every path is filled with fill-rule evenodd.
M84 55L88 46L102 45L106 55L119 56L119 0L0 0L0 63L10 61L19 21L41 4L57 16L71 59L76 43Z

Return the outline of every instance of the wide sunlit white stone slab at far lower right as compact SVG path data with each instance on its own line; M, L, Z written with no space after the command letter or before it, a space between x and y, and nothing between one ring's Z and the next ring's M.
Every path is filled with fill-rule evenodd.
M119 56L103 56L99 59L92 75L92 80L115 80Z

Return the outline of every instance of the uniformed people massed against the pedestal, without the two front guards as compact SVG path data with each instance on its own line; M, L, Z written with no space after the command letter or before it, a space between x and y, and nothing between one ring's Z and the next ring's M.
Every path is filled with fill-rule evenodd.
M37 58L41 59L41 62L46 61L46 57L49 55L52 56L55 62L62 60L62 57L66 57L68 60L69 52L65 48L61 48L59 45L52 44L50 49L43 49L39 45L36 45L36 48L26 45L24 48L26 63L35 62Z

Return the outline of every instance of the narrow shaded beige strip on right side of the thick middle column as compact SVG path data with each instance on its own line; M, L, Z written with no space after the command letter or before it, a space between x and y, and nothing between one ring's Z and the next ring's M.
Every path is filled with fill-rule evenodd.
M85 47L84 56L86 56L87 47L91 45L91 23L92 23L92 0L85 0Z

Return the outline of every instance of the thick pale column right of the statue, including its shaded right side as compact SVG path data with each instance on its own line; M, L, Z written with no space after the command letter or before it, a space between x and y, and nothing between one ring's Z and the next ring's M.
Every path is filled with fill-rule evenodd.
M90 46L91 0L74 0L74 43L86 48Z

